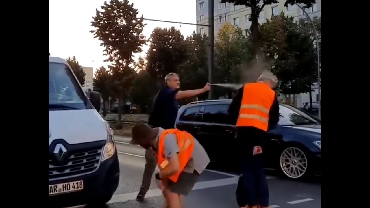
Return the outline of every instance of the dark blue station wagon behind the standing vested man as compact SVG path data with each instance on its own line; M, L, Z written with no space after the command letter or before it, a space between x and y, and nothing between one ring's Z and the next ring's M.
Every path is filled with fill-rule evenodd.
M229 122L231 100L196 101L183 105L176 127L195 136L211 161L232 163L237 157L235 125ZM222 154L220 154L222 152ZM321 121L280 104L279 124L268 132L265 168L292 179L321 173Z

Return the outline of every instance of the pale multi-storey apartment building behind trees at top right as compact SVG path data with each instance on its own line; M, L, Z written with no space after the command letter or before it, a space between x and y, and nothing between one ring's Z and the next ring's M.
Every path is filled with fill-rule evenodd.
M209 0L196 0L196 23L197 24L209 24L208 19L208 1ZM262 2L262 1L261 1ZM297 5L289 5L284 7L285 0L279 1L277 4L270 4L263 7L263 10L259 15L259 24L264 23L267 19L270 19L272 15L278 15L283 12L285 15L293 16L296 20L305 18L306 15ZM303 6L303 5L302 5ZM311 18L314 16L321 17L321 0L316 0L314 4L306 12ZM233 5L232 3L221 3L221 0L214 0L214 24L215 24L215 37L223 24L229 22L235 26L240 27L243 30L243 34L246 34L252 24L249 21L249 15L251 13L250 7L244 5ZM208 35L208 27L197 26L197 33Z

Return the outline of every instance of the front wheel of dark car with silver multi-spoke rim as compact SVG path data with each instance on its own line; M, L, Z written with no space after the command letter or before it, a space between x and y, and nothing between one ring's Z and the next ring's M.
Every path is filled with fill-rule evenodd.
M298 145L286 146L280 151L277 169L286 178L301 180L312 175L310 161L304 148Z

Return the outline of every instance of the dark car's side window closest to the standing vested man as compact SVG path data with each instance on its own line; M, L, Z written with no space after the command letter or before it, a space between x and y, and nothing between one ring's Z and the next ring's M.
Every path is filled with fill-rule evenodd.
M206 105L203 114L203 122L230 124L228 109L228 104Z

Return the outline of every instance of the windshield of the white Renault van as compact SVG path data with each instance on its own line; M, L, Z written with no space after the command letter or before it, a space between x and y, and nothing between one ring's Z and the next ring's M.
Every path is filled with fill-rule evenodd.
M83 110L90 105L68 66L49 62L49 110Z

